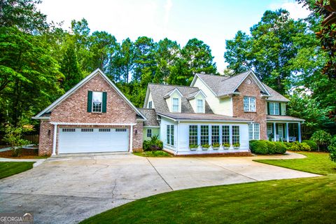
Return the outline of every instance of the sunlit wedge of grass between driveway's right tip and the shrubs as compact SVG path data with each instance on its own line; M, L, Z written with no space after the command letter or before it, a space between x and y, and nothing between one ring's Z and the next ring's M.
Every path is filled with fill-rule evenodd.
M302 155L306 155L307 158L295 159L295 160L253 160L255 162L262 162L269 165L278 167L286 167L290 169L296 169L303 172L309 172L314 174L336 174L336 163L329 159L329 153L306 153L300 152Z

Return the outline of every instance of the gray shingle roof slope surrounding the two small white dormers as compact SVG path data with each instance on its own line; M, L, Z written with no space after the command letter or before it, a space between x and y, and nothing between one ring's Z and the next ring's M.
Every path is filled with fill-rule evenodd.
M157 113L167 113L169 112L169 108L167 106L167 102L164 97L168 92L171 92L174 89L178 89L181 94L181 113L195 113L193 107L188 101L187 97L189 94L200 90L198 87L189 87L183 85L162 85L162 84L148 84L148 88L151 91L151 95L153 98L153 104L155 107L155 111ZM213 113L210 109L209 104L205 104L205 113Z

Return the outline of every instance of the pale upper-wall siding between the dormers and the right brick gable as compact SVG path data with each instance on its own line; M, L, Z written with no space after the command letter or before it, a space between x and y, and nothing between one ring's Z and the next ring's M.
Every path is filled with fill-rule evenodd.
M225 99L218 99L211 90L204 85L200 78L197 78L194 84L195 87L199 87L200 90L207 95L207 102L214 113L225 115L225 116L232 116L232 98L228 97Z

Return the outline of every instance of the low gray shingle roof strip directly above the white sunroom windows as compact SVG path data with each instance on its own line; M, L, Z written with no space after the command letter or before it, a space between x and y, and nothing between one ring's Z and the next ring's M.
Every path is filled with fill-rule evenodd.
M158 115L167 116L169 118L173 118L176 120L225 120L225 121L237 121L237 122L252 121L246 118L223 116L214 113L158 113Z

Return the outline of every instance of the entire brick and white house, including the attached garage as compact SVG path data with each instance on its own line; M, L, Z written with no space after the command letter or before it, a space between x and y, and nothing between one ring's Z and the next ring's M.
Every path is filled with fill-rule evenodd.
M303 120L286 116L286 102L247 71L197 74L190 86L149 84L137 109L97 69L34 117L38 153L141 151L154 135L175 155L248 153L251 139L300 141Z

